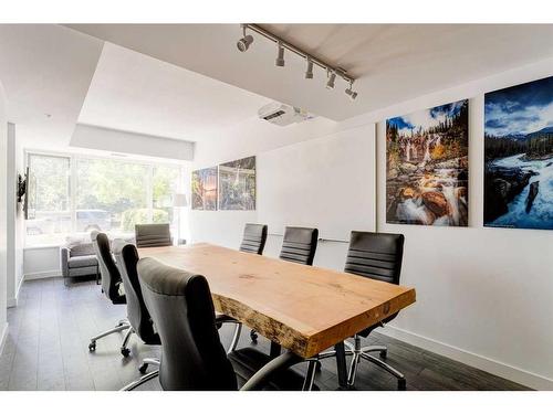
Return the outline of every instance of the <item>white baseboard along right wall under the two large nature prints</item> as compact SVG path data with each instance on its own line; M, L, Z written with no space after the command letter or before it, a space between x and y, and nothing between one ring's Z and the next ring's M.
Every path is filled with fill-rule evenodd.
M390 325L386 325L386 328L380 332L388 337L450 358L467 365L478 368L482 371L504 378L507 380L514 381L531 389L541 391L553 390L553 380L546 376L534 374L520 368L512 367L487 357L478 355L476 353L465 351L460 348L439 342L434 339L393 327Z

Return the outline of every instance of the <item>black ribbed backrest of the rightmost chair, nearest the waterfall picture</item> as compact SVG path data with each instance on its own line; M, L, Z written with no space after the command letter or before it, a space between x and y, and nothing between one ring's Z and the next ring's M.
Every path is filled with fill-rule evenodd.
M398 285L404 241L403 234L354 231L344 270Z

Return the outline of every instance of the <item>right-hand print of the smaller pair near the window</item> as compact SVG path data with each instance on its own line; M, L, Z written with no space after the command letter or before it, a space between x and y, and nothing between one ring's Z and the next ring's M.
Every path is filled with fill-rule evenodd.
M255 157L219 166L219 210L255 210Z

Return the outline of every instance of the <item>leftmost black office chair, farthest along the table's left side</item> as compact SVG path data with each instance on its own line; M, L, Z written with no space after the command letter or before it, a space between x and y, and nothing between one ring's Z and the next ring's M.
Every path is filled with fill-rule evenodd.
M92 244L97 255L100 273L102 274L102 291L114 305L126 305L127 300L125 294L123 293L121 274L113 259L112 252L109 250L109 240L104 233L93 232L91 233ZM127 319L119 320L119 322L112 328L94 338L91 339L88 344L88 350L94 352L96 350L96 341L101 338L107 337L108 335L121 332L127 330L123 343L121 346L121 353L123 357L128 357L131 351L128 350L127 342L132 335L132 327Z

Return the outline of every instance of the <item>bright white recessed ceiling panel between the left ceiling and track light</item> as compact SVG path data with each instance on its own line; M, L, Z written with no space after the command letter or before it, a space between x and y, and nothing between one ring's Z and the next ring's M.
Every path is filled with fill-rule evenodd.
M106 43L79 121L153 136L201 140L257 117L270 99Z

